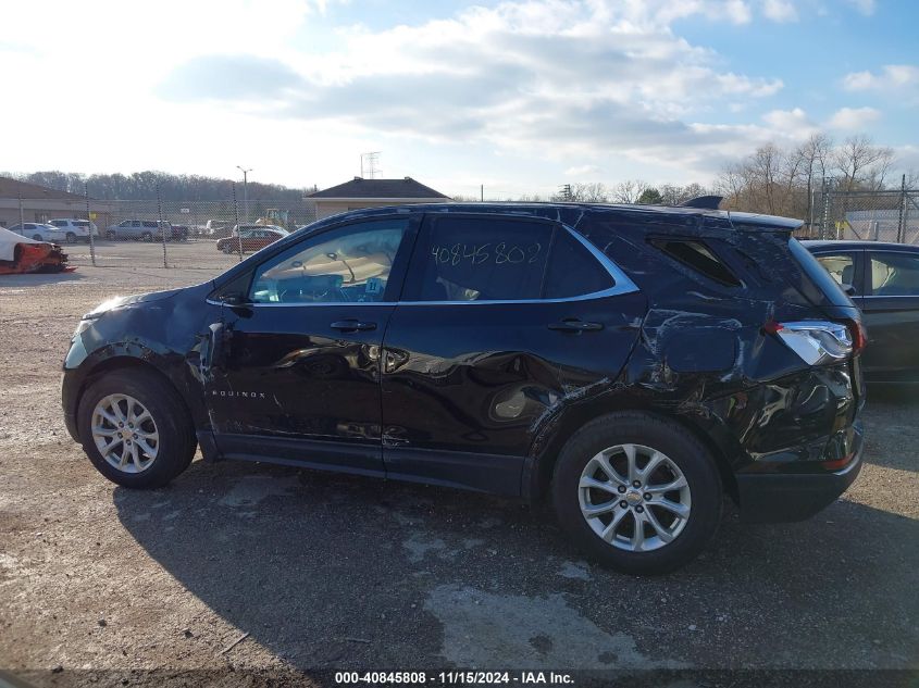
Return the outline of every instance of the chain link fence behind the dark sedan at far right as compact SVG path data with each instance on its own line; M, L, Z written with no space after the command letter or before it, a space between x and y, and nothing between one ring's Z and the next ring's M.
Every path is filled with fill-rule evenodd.
M919 190L821 189L814 195L811 217L798 234L810 239L919 243Z

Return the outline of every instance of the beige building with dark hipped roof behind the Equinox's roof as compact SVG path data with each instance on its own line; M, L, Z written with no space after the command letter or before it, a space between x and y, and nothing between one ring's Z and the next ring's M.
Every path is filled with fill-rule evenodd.
M443 203L450 198L411 177L403 179L364 179L355 177L350 182L333 186L307 196L315 203L315 218L322 220L349 210L380 208L381 205L406 205L408 203Z

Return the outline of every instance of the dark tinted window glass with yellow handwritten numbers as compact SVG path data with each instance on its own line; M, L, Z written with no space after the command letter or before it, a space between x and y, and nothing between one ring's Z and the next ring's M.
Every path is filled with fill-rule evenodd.
M552 225L504 217L432 217L419 239L407 300L541 298Z

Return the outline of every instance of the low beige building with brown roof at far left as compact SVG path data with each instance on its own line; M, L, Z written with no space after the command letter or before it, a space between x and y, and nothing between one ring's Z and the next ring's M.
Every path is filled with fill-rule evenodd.
M89 218L99 227L109 224L113 209L109 201L89 199ZM0 177L0 227L11 227L21 220L48 222L59 217L86 220L86 197Z

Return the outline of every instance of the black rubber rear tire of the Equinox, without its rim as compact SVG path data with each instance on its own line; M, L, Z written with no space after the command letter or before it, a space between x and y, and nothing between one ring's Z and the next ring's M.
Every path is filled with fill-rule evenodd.
M653 448L672 461L682 471L692 499L682 530L670 542L650 551L620 549L605 541L581 511L579 486L587 463L607 448L629 443ZM611 497L611 501L618 499ZM556 515L568 536L601 564L635 575L668 573L695 559L718 528L721 500L721 476L708 449L679 423L642 412L611 413L585 425L562 448L552 478ZM619 501L617 509L625 509L625 503ZM634 509L641 511L645 503L637 503ZM654 513L660 512L655 508ZM626 521L632 517L637 516L623 516L626 529L630 524L635 527L635 521Z

